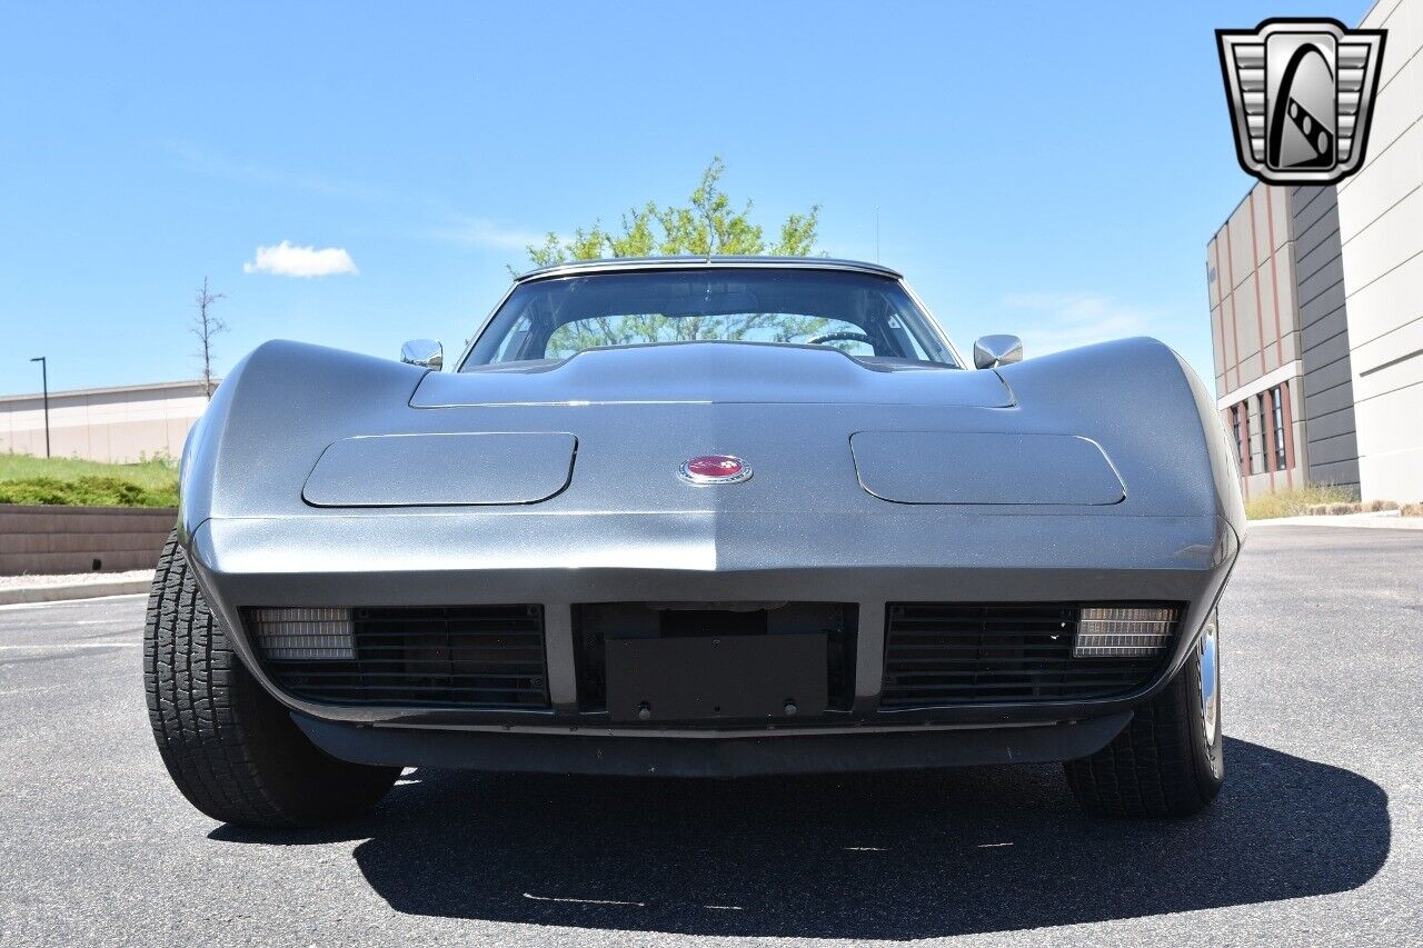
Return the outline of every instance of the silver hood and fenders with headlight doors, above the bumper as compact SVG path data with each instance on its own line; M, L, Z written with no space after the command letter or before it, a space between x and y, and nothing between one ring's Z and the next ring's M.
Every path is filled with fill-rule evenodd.
M702 454L740 457L754 477L687 484L679 465ZM272 342L233 367L195 426L179 517L191 530L209 517L393 508L636 512L714 530L746 515L813 542L817 518L1210 517L1232 471L1208 391L1150 340L992 372L690 343L460 374Z

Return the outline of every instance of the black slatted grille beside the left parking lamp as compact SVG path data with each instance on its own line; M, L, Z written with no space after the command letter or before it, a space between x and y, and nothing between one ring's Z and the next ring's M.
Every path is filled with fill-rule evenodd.
M351 626L354 659L273 649L262 665L287 693L327 705L549 706L542 606L353 609Z

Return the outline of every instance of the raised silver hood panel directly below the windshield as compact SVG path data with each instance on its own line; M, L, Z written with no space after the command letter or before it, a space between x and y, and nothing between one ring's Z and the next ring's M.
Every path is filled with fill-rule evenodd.
M622 346L562 362L430 373L414 409L495 404L941 404L1003 409L995 372L875 364L824 346L689 342Z

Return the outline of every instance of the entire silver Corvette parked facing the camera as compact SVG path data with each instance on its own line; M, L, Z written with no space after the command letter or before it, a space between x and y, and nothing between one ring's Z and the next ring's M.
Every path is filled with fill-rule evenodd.
M887 268L670 258L528 273L441 363L266 343L189 436L145 675L203 813L347 818L408 766L1220 789L1244 512L1165 346L969 366Z

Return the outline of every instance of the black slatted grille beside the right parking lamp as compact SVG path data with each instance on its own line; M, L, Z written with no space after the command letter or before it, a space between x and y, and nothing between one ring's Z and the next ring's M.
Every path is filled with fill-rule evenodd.
M1144 683L1165 651L1073 658L1077 604L889 604L879 706L1033 703L1110 697ZM1173 611L1171 632L1175 631Z

